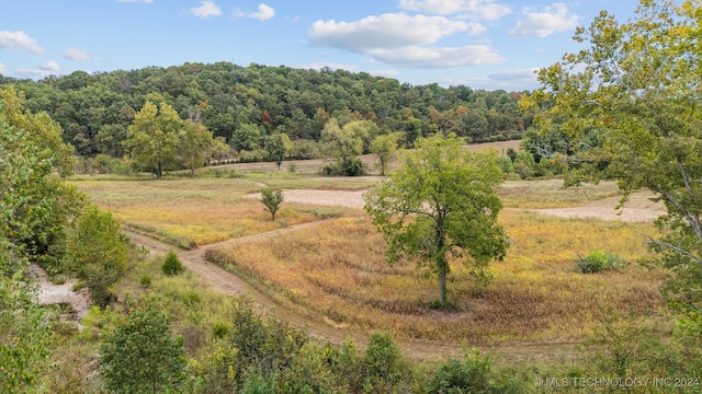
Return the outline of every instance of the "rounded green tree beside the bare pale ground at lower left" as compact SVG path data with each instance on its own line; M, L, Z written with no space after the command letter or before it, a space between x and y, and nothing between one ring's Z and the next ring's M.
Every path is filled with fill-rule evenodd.
M114 299L112 286L127 269L129 251L112 213L89 207L68 234L66 260L84 280L93 302L105 306Z

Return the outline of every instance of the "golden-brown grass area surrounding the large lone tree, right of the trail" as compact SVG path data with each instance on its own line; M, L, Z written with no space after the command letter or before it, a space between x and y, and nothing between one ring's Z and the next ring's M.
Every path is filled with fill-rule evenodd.
M212 262L283 294L310 315L362 329L389 329L397 337L507 341L570 341L585 338L612 309L633 313L659 334L670 324L656 273L636 263L621 271L582 275L574 259L592 248L629 260L646 256L638 232L648 224L544 218L505 212L512 245L492 264L494 280L477 287L468 270L453 265L449 300L455 312L428 308L438 282L414 264L388 266L385 243L367 219L320 222L208 254Z

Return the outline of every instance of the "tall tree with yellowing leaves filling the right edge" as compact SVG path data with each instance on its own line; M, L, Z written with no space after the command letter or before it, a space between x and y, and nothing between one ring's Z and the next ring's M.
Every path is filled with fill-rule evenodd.
M601 170L624 196L645 188L665 202L650 239L672 269L667 296L678 305L702 301L702 1L642 0L619 23L602 11L576 40L577 54L542 69L542 88L522 107L543 130L559 127L575 141L578 172ZM597 131L599 147L582 141ZM588 165L591 163L592 165ZM586 173L595 179L603 173ZM581 177L576 178L576 181Z

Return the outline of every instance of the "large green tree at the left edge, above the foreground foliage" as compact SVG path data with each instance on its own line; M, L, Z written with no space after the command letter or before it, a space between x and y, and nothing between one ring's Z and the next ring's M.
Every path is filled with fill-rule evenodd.
M12 89L0 89L0 232L23 255L56 269L67 223L86 196L50 176L54 164L68 165L69 149L56 142L60 128L46 114L25 111Z

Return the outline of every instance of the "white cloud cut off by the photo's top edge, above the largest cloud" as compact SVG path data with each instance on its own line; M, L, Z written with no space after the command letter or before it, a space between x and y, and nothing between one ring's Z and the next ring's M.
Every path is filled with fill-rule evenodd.
M461 15L476 21L495 21L512 13L508 5L495 0L399 0L399 7L438 15Z

